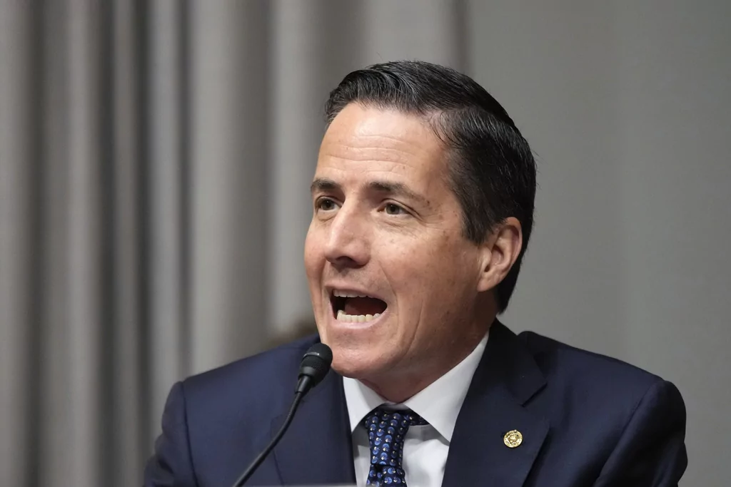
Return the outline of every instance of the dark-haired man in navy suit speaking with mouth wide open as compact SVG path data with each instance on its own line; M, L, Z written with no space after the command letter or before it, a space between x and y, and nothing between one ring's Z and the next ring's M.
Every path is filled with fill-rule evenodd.
M230 486L317 340L333 371L247 485L675 486L675 386L496 320L536 186L500 104L451 69L395 62L348 74L326 110L305 245L319 338L176 384L145 486Z

